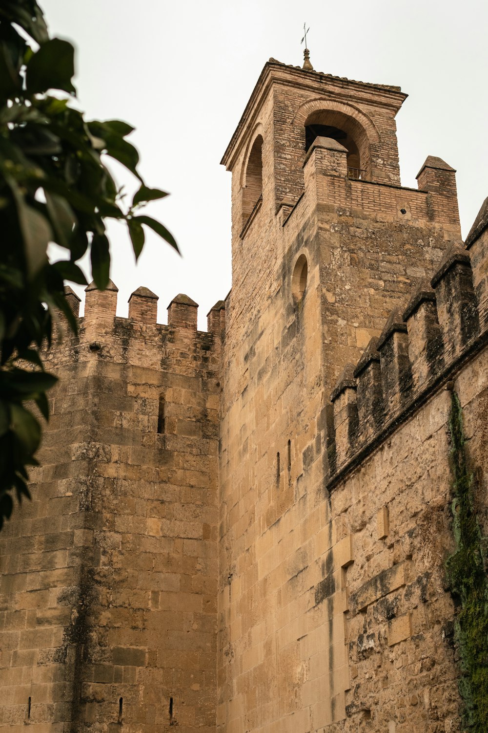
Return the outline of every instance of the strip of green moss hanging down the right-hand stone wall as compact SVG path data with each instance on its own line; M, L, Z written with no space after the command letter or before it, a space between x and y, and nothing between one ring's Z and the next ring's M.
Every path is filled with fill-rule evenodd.
M446 561L448 583L459 604L454 640L459 653L459 693L465 703L463 723L476 733L488 730L488 578L484 538L474 503L474 476L468 468L462 409L452 393L449 418L453 517L456 550Z

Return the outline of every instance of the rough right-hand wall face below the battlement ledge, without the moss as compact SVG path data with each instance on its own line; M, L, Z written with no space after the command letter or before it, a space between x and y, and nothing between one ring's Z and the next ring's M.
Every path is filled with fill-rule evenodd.
M477 474L486 463L481 427L487 419L486 360L485 347L452 385L466 435L476 437L468 443L468 455ZM439 388L331 488L334 520L323 531L334 535L336 546L351 546L348 565L333 575L347 597L349 677L346 719L331 730L460 729L454 603L445 570L454 551L450 416L451 391ZM485 496L486 477L478 485L481 507ZM326 574L330 593L327 581ZM311 677L310 684L317 686L317 679Z

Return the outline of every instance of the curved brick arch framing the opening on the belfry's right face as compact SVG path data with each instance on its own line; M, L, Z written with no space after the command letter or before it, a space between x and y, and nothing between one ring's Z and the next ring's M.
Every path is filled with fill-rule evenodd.
M355 141L361 158L361 167L371 176L371 146L378 143L380 136L375 124L367 114L356 106L318 97L302 104L293 118L293 126L299 127L305 135L305 125L310 121L332 125L348 133Z

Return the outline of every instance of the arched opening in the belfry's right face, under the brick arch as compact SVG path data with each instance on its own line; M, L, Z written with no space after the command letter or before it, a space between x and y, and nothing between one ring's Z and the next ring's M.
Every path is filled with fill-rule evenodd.
M312 112L305 122L305 152L317 137L331 138L348 151L348 176L371 180L369 140L359 122L338 111Z

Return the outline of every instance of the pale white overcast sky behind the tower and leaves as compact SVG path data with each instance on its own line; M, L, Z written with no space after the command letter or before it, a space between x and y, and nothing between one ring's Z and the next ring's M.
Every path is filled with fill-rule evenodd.
M219 166L264 63L318 71L410 96L397 116L402 185L427 155L457 169L463 236L488 195L487 6L481 0L40 0L52 35L75 43L86 119L124 119L146 184L170 191L145 213L168 226L180 258L146 235L138 265L126 230L109 228L120 315L140 285L159 317L184 292L206 313L230 289L230 173ZM135 183L113 167L132 194ZM89 276L89 273L87 273ZM77 287L80 293L83 288Z

